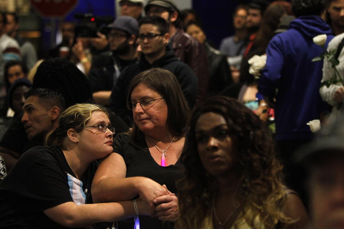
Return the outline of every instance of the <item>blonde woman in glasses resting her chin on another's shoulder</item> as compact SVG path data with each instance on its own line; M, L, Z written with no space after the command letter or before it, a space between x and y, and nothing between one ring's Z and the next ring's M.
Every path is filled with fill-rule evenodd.
M141 199L92 204L96 159L112 152L107 111L75 104L60 114L47 145L26 151L0 183L0 228L80 228L149 208Z

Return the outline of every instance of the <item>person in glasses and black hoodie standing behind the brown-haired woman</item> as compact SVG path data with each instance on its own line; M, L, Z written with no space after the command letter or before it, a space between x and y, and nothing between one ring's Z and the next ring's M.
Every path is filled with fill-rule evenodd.
M178 60L168 46L170 34L167 23L158 16L142 18L138 43L142 54L137 64L121 72L115 89L111 93L110 108L118 114L128 126L132 126L132 112L126 106L126 99L131 80L140 72L152 67L171 71L178 79L189 106L193 107L196 99L197 78L192 69Z

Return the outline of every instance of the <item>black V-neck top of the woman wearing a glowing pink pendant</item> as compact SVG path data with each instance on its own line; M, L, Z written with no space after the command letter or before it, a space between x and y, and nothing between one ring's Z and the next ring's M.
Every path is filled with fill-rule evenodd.
M126 177L144 176L161 185L165 184L172 193L176 193L175 181L182 176L181 162L178 160L174 165L162 167L152 158L144 137L139 140L138 144L143 149L133 146L130 143L130 137L128 135L119 134L115 138L114 152L120 154L126 163ZM168 157L168 151L166 154ZM140 216L139 218L140 228L173 228L173 224L171 222L163 223L157 217ZM127 220L120 221L118 223L118 228L134 228L134 219L129 218Z

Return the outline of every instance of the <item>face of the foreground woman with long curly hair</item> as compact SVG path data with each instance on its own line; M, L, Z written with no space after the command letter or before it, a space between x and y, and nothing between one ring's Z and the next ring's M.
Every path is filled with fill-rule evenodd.
M217 113L202 114L195 126L197 151L205 170L215 177L227 175L235 166L235 147L226 119Z

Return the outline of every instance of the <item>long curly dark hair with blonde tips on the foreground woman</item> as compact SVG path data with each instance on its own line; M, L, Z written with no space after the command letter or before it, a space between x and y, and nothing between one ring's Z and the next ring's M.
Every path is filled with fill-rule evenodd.
M177 182L181 211L177 228L201 228L212 207L216 182L202 165L195 137L196 122L207 112L222 115L233 133L238 149L238 171L241 173L237 198L243 206L241 214L247 224L254 228L254 217L257 215L265 228L273 228L279 221L290 223L291 219L282 212L285 197L282 166L275 158L273 141L266 125L237 100L214 96L195 108L190 121L180 158L184 165L184 177ZM247 207L253 215L245 212Z

